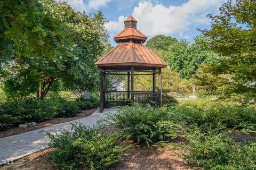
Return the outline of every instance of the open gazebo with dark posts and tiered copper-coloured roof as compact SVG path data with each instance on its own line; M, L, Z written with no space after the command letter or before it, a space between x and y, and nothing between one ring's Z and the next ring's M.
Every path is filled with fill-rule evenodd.
M133 103L162 106L161 69L167 64L145 45L147 37L137 30L137 21L129 16L124 30L115 36L116 47L95 63L100 69L100 112L110 106ZM127 75L127 91L106 91L106 74ZM156 91L158 74L158 91ZM152 75L152 91L134 91L134 75Z

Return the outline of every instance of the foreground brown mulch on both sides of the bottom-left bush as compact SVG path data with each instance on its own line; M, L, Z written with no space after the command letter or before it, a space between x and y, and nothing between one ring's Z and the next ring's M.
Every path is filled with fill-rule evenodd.
M125 141L124 145L132 143L132 141ZM51 158L49 151L51 148L35 152L23 159L14 162L12 165L5 165L3 170L57 170L51 165ZM123 156L121 162L116 163L114 166L108 168L108 170L167 170L167 169L192 169L183 159L178 158L175 155L177 150L159 150L157 146L136 146L131 150L126 151L126 156Z

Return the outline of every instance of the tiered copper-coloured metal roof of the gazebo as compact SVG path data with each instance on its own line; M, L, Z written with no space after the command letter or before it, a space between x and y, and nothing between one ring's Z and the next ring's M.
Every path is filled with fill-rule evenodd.
M95 65L165 67L167 64L160 57L142 45L147 37L137 30L137 21L129 16L124 23L125 29L115 36L115 41L119 44L101 57Z

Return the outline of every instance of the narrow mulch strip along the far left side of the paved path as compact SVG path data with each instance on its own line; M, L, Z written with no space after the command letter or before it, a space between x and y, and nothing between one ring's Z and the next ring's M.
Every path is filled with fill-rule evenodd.
M87 116L90 116L96 109L90 109L87 111ZM5 138L5 137L9 137L11 135L15 135L15 134L20 134L20 133L24 133L24 132L28 132L28 131L33 131L36 129L40 129L40 128L45 128L47 126L52 126L55 124L60 124L60 123L64 123L64 122L69 122L69 121L73 121L73 120L77 120L78 118L83 118L86 117L86 111L82 111L80 113L78 113L76 116L73 117L54 117L50 120L45 120L43 122L38 123L36 126L31 126L28 128L19 128L19 127L12 127L12 128L7 128L3 131L0 131L0 138Z

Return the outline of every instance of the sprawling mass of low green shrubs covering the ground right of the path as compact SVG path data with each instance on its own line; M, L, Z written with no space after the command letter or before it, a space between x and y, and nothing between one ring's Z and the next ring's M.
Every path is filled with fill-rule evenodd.
M255 169L256 137L236 141L235 132L255 135L252 107L224 101L189 100L163 108L131 106L108 115L123 135L135 142L181 150L179 156L196 168ZM175 143L175 139L186 139ZM163 145L164 143L164 145Z

